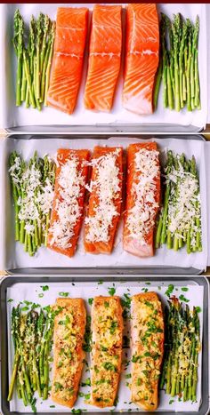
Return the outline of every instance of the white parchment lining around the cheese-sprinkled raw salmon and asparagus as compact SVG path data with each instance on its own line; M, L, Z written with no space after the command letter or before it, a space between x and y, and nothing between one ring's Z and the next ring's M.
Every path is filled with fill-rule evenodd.
M206 269L207 263L207 214L206 214L206 164L205 142L202 140L177 140L177 139L153 139L158 142L160 150L170 148L186 156L196 156L199 166L199 180L201 193L202 215L202 252L187 254L186 248L181 251L167 250L166 246L159 248L152 258L140 259L123 251L122 230L123 220L117 229L115 249L110 255L93 255L85 253L82 228L78 248L71 259L55 251L41 247L34 257L29 257L20 243L14 241L14 214L12 208L12 195L8 175L8 158L12 150L20 152L24 158L29 159L38 150L39 156L49 154L56 156L58 148L89 148L95 145L123 146L127 147L132 142L141 142L140 139L115 137L109 140L69 140L69 139L37 139L37 140L3 140L0 143L0 166L2 168L2 180L0 182L0 267L2 269L13 268L39 268L39 267L194 267ZM143 140L145 142L145 140Z

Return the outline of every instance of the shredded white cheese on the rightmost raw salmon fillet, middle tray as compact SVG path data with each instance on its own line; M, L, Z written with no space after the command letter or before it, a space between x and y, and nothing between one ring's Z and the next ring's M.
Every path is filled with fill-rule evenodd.
M134 159L132 195L134 205L128 211L130 236L146 245L145 235L155 225L158 211L156 179L159 173L158 151L141 148Z

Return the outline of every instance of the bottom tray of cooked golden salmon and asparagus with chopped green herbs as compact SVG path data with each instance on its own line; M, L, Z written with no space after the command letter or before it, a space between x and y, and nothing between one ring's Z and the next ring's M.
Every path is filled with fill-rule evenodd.
M206 278L98 278L4 278L5 413L207 413Z

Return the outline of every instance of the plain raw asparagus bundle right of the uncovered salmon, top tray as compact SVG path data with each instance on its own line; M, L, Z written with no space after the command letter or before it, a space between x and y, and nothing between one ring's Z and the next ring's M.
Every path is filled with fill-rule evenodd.
M163 79L164 107L180 111L200 109L198 73L199 18L195 24L180 13L170 20L162 13L160 21L160 63L154 93L157 106L160 76Z

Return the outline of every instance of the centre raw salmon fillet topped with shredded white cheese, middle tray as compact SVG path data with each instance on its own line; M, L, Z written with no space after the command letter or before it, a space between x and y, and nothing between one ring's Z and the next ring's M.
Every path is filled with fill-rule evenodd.
M95 147L90 198L85 218L85 251L110 253L120 218L123 149Z

